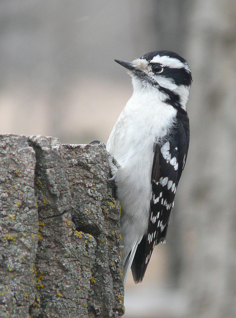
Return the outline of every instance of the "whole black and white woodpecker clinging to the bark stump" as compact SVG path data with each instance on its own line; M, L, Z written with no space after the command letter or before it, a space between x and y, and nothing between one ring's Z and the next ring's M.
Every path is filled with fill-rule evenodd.
M192 82L177 53L155 51L132 62L133 94L107 142L117 160L123 279L143 280L154 246L165 242L189 144L186 102Z

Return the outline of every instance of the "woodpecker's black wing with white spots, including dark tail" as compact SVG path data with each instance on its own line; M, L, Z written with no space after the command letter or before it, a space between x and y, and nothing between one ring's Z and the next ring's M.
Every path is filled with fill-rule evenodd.
M183 115L179 115L183 116ZM177 117L175 129L161 145L154 144L152 198L147 235L137 247L131 266L135 283L143 280L154 246L165 242L178 181L184 168L189 145L187 115Z

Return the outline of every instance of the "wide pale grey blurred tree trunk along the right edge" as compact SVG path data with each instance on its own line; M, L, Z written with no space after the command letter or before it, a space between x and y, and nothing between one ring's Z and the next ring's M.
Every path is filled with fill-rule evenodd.
M189 12L190 13L190 12ZM187 56L193 85L181 180L187 318L236 317L236 2L194 1ZM192 63L191 63L192 62Z

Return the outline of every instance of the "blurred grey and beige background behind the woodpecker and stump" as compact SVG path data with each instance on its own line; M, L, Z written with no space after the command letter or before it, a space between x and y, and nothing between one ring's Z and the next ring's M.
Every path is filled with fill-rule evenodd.
M125 318L236 317L236 2L1 0L0 133L104 142L131 80L114 59L187 59L191 140L166 244Z

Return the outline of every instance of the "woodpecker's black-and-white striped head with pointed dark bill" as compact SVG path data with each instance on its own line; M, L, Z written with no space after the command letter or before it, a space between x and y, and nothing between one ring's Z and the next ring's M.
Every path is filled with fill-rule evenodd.
M185 110L192 76L186 60L177 53L155 51L132 62L115 61L128 70L134 91L157 89L163 101Z

